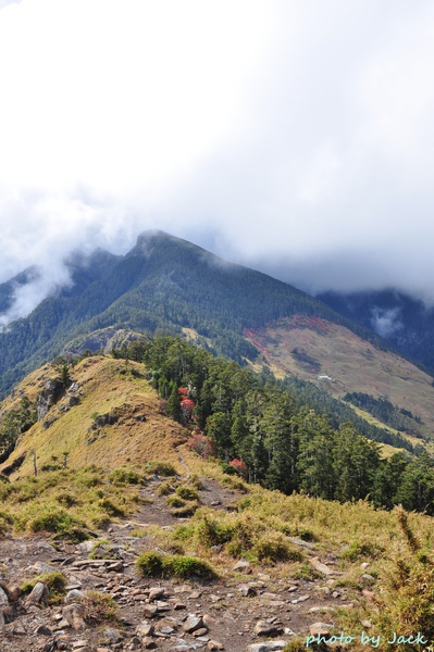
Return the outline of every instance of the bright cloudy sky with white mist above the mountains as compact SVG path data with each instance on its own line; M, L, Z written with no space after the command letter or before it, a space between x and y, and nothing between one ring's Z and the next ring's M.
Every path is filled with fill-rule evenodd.
M0 283L160 228L434 303L431 0L0 0Z

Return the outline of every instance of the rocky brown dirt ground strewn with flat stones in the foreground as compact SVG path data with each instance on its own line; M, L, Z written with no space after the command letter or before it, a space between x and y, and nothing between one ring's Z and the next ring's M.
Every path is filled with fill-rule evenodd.
M133 519L103 532L110 559L89 557L95 541L53 544L45 536L0 541L2 651L268 652L284 649L295 636L327 630L336 607L351 609L344 590L336 589L336 560L296 539L293 542L302 547L319 579L294 581L274 568L246 561L234 561L212 582L140 577L135 561L152 543L132 531L146 531L145 526L152 524L171 528L179 522L157 493L160 481L156 478L141 490L142 498L152 502L144 504ZM234 490L202 480L203 504L224 510L236 498ZM26 579L54 570L69 582L61 603L48 604L44 582L30 593L21 592ZM89 590L113 598L117 620L98 618L86 598Z

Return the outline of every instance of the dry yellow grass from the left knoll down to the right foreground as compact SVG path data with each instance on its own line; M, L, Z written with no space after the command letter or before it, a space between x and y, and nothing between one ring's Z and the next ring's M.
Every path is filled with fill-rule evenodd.
M101 510L107 510L107 505L109 510L113 504L122 507L125 515L137 509L134 505L138 505L140 499L138 494L134 498L134 493L137 493L135 487L131 491L124 487L116 489L107 482L102 472L97 471L91 472L97 481L94 486L89 482L91 478L84 475L86 472L78 469L85 464L95 463L104 468L116 468L127 462L129 466L142 468L150 460L172 462L181 474L185 474L187 469L190 474L197 474L201 478L200 482L212 479L220 487L233 488L234 502L239 499L240 490L244 494L231 511L202 506L193 518L183 522L181 530L157 526L148 528L149 531L142 532L144 542L148 541L147 547L153 549L159 546L164 549L168 546L181 546L188 552L193 551L211 561L225 576L235 560L231 549L223 543L235 543L237 554L251 560L255 573L266 569L272 590L280 587L282 581L289 586L297 579L306 582L302 584L302 590L315 595L318 601L325 590L335 589L344 590L351 600L352 606L349 610L311 614L310 622L332 620L337 634L347 630L356 635L365 628L363 623L369 619L372 623L371 635L389 635L392 630L416 634L419 630L426 631L432 640L432 602L429 602L429 593L433 582L431 579L425 581L427 589L421 584L420 574L425 572L423 564L426 563L419 560L419 556L422 560L421 555L417 559L414 551L406 543L399 528L399 510L387 513L383 510L375 511L363 501L342 505L307 496L285 497L278 491L268 491L259 486L244 487L236 478L224 476L219 465L203 462L188 450L183 443L186 437L181 426L158 413L158 398L147 380L132 375L131 369L140 368L141 365L129 363L129 369L125 372L123 361L110 358L84 360L74 369L74 379L83 392L80 403L64 412L59 410L66 403L66 398L62 399L47 415L47 419L58 417L57 421L46 429L41 424L36 424L23 436L14 457L34 448L38 454L38 464L42 465L51 461L52 454L61 457L62 452L69 450L70 469L66 473L40 473L35 479L32 477L32 455L28 455L12 479L16 480L16 476L28 477L13 482L16 489L12 489L2 503L5 516L14 516L14 527L18 531L38 531L37 528L40 529L48 519L52 519L53 513L65 521L64 514L70 511L67 501L71 499L76 501L71 507L73 516L91 527L104 523L106 516L101 515ZM1 404L0 410L13 406L20 400L20 393L35 399L47 379L54 375L50 365L38 369L21 384L21 391L16 390L13 398ZM92 423L90 415L95 412L106 414L112 409L120 409L120 421L106 426L100 431L99 439L88 444L88 429ZM146 421L136 418L140 415L145 415ZM181 455L175 447L178 447ZM185 478L183 481L188 480ZM8 489L7 485L4 489ZM203 501L207 499L206 494L207 491L203 492ZM146 503L144 504L141 518L148 518ZM432 519L421 514L410 514L408 524L418 534L426 551L431 551ZM179 539L181 534L183 537ZM149 540L151 536L152 541ZM299 544L295 548L294 541L287 537L296 538L298 542L299 539L313 542L314 549L306 550ZM221 550L213 551L212 544L221 542ZM283 560L281 556L285 551L289 554L297 552L297 556ZM272 556L272 564L266 557L260 556L264 553ZM431 555L426 553L425 556L427 554ZM332 580L321 577L321 574L312 574L309 559L313 555L327 563L335 572ZM409 569L401 589L399 582L394 580L394 584L392 578L396 577L397 569L400 568L399 560L402 559L408 562ZM368 575L360 566L362 562L368 565ZM431 569L430 565L427 570ZM236 578L236 582L238 581ZM231 587L233 591L235 586L236 584ZM390 590L392 597L388 598L387 592ZM414 609L416 600L419 601L418 610ZM314 599L311 602L314 603ZM377 609L379 603L382 605L381 610ZM389 618L388 614L393 614L395 603L398 611ZM404 619L400 613L404 613L407 605L410 605L411 613ZM384 614L387 616L386 620ZM302 649L302 640L299 649ZM355 644L352 649L362 648ZM380 645L379 649L388 648ZM407 648L402 647L402 650Z

